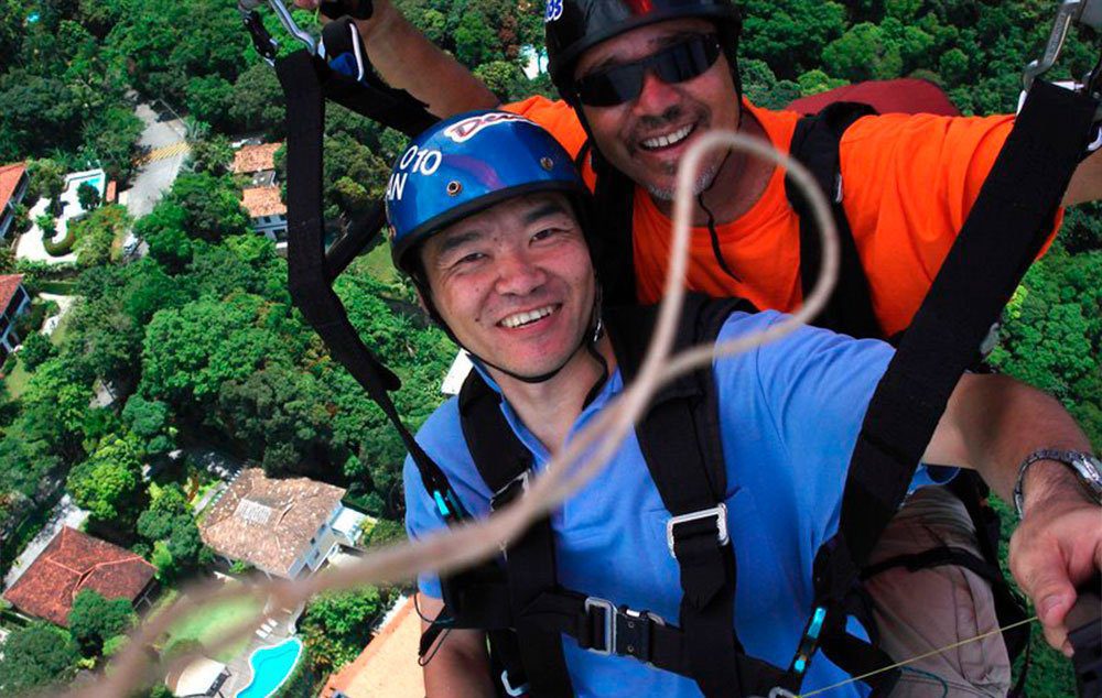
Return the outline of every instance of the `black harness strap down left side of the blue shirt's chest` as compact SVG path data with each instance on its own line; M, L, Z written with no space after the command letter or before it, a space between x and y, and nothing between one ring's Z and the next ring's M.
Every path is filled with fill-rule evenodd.
M486 385L477 372L472 372L460 392L460 423L478 472L495 493L494 509L506 506L523 494L533 465L531 451L505 422L500 405L500 395ZM520 539L511 542L506 547L505 560L519 656L531 692L571 696L573 689L562 652L562 636L553 629L531 622L523 612L537 597L557 586L550 519L538 521ZM520 679L511 673L508 680L516 686Z

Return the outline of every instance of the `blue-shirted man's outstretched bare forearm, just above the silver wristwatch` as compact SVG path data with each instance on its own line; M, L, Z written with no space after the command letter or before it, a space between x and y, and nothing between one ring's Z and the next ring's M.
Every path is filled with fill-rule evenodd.
M965 375L930 444L927 462L975 469L1001 498L1012 501L1018 466L1041 448L1090 450L1082 429L1044 392L1001 375ZM1042 499L1078 497L1074 476L1058 463L1029 468L1026 506Z

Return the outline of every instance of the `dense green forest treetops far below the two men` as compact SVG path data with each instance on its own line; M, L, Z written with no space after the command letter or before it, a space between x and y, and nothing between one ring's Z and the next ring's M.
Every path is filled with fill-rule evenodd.
M554 95L545 75L529 79L522 70L531 48L542 45L538 0L395 3L503 100ZM976 114L1014 108L1022 69L1040 55L1058 7L1055 0L741 4L739 69L756 103L782 107L851 81L909 75L940 84L960 109ZM91 512L94 531L153 560L165 582L194 574L209 555L187 503L197 476L186 463L164 463L166 454L195 443L216 444L276 476L347 486L350 501L382 517L379 539L401 535L402 444L293 308L285 262L250 232L238 204L242 182L229 174L229 143L284 133L274 74L233 6L0 0L0 164L31 161L32 198L56 199L65 172L91 166L123 188L141 154L139 101L183 114L192 148L187 171L148 216L131 221L119 207L105 207L82 221L75 265L47 269L0 255L0 271L25 273L32 292L64 279L79 296L65 340L29 341L19 358L26 385L18 395L0 391L0 558L9 560L41 527L36 512L48 510L63 486ZM295 17L315 22L309 13ZM296 47L270 12L266 22L281 51ZM1073 34L1054 76L1084 74L1098 51L1093 36ZM378 199L404 142L329 107L325 215L336 232ZM1102 447L1099 214L1098 205L1067 212L1052 249L1007 308L993 357L1000 370L1063 401L1095 448ZM149 254L122 263L111 240L131 225ZM385 250L357 261L336 290L365 341L403 379L397 401L415 427L441 400L454 347L417 309ZM118 396L107 407L91 402L104 384ZM141 471L151 462L162 469L147 486ZM361 641L358 629L336 628L345 610L333 609L355 608L367 618L378 603L378 595L367 595L314 607L306 624L314 663L342 663ZM74 643L35 625L9 643L4 662L52 657L45 673L20 674L26 686L37 685L66 675L78 650L110 645L115 630L82 631ZM1040 662L1059 664L1055 654ZM1035 669L1033 689L1067 691L1061 672Z

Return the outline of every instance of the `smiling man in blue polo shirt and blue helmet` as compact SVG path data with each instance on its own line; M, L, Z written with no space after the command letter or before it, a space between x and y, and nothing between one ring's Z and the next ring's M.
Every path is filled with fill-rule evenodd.
M598 284L581 222L585 196L569 155L549 134L504 112L433 128L402 155L388 186L396 263L504 397L508 427L537 471L624 388L613 342L601 331ZM781 317L733 313L719 339L760 331ZM737 563L734 629L752 657L787 666L796 651L812 606L812 561L838 528L846 463L890 357L875 340L802 328L714 362L726 526ZM463 508L486 515L494 492L464 446L456 400L429 418L418 440ZM975 468L1008 497L1018 463L1039 448L1084 451L1089 445L1050 397L1005 378L968 375L923 460ZM443 527L443 508L411 461L404 475L410 535ZM951 475L919 468L912 487ZM1057 465L1028 469L1024 491L1028 516L1012 565L1042 613L1056 609L1046 631L1060 646L1072 582L1100 564L1098 502ZM558 582L677 623L681 586L667 549L669 517L629 435L551 516ZM443 607L440 582L422 576L419 586L422 611L433 618ZM690 677L593 653L569 637L562 645L577 695L700 695ZM815 656L803 689L847 678ZM425 666L425 687L430 696L495 695L485 635L446 635ZM847 684L830 695L862 692Z

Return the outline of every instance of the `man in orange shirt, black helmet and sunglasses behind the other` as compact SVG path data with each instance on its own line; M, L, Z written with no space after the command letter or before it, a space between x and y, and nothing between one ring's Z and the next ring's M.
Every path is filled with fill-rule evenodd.
M316 0L296 3L314 7ZM375 17L359 26L372 63L390 84L441 117L495 106L484 86L418 34L388 0L374 4ZM613 220L612 227L626 225L629 235L605 259L630 262L636 297L655 302L669 251L674 173L687 149L710 129L727 129L787 151L799 117L742 98L741 21L728 0L549 0L545 20L551 75L566 101L534 97L507 108L547 128L574 155L590 141L582 164L591 186L597 186L594 153L602 178L626 179L618 199L602 199L597 186L598 203L627 204L627 220ZM425 80L425 75L447 77ZM1012 126L1008 116L893 114L861 119L845 131L839 146L843 207L880 336L909 325ZM799 217L786 198L784 174L769 163L715 153L694 195L688 286L742 296L760 308L798 307ZM1093 156L1080 166L1063 203L1100 196L1102 160ZM939 545L976 547L960 502L927 488L885 532L873 561ZM884 645L897 657L997 626L990 589L966 570L942 567L911 576L895 569L869 588ZM973 597L975 608L961 609L958 628L923 625L930 604L969 607ZM1054 611L1040 611L1048 622ZM961 695L1004 695L1009 684L997 640L921 667ZM909 694L929 690L916 679Z

